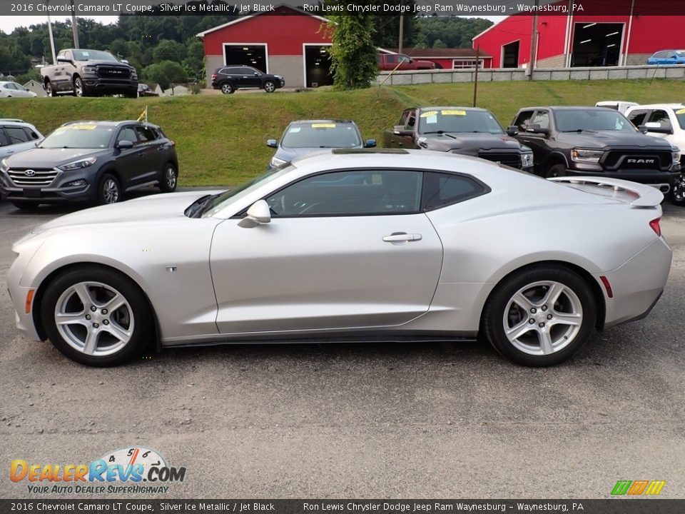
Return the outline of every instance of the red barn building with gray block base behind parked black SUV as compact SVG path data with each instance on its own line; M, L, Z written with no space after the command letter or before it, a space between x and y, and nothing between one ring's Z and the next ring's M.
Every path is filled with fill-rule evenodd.
M219 66L240 64L281 75L285 87L333 84L327 20L288 6L242 16L198 34L205 45L207 84Z

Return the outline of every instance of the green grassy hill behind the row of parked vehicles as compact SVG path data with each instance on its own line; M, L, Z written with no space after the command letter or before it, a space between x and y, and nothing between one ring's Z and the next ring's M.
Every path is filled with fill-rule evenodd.
M490 109L506 127L524 106L594 105L599 100L639 103L683 101L681 81L485 82L478 106ZM235 185L260 173L293 119L354 119L364 138L381 141L402 109L417 105L470 106L473 84L382 86L361 91L178 96L146 99L2 99L1 118L21 118L49 133L78 119L136 119L148 106L148 119L176 141L182 186Z

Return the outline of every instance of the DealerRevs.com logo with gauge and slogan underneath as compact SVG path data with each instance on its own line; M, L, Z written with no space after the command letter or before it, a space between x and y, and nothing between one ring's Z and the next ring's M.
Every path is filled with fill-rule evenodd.
M174 468L161 453L134 446L106 453L89 464L41 464L12 460L9 479L29 493L167 493L183 482L186 468Z

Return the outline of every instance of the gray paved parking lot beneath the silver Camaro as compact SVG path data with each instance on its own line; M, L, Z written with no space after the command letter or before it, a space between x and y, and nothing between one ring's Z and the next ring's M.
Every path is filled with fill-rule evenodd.
M223 346L85 368L16 333L3 285L0 498L31 496L13 459L129 445L187 468L168 498L604 498L619 479L684 498L685 209L664 208L674 263L651 316L557 368L476 343ZM67 211L0 203L3 284L11 242Z

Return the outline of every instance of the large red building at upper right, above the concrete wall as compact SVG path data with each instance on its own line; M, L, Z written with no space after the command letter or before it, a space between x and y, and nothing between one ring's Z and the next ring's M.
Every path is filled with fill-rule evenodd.
M536 67L639 65L655 51L685 48L683 0L594 0L582 2L583 11L559 14L572 3L539 12ZM528 67L532 24L532 14L508 16L478 34L473 46L492 55L493 68Z

